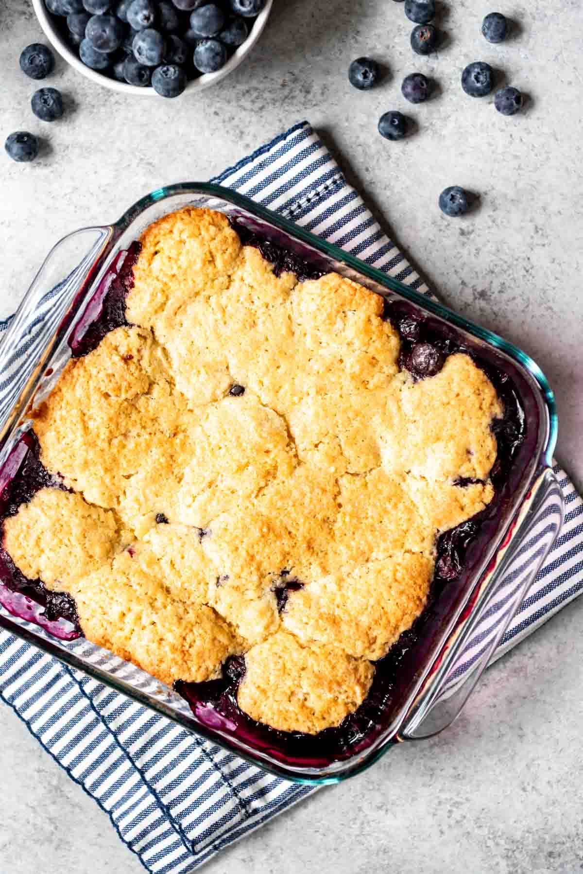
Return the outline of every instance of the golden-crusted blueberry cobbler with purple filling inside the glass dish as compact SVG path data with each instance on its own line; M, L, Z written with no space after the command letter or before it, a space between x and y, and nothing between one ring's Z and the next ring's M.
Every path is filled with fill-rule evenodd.
M243 239L185 209L128 253L32 413L2 577L201 718L331 737L460 572L516 417L467 352Z

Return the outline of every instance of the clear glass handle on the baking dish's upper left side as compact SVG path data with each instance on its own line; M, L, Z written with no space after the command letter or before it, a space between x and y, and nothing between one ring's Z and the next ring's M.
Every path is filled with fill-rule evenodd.
M95 274L113 232L109 226L86 227L63 237L24 295L0 345L0 439L24 416L38 373L62 334L59 331L52 343L47 344L47 338L56 333L83 283ZM72 321L74 317L72 313Z

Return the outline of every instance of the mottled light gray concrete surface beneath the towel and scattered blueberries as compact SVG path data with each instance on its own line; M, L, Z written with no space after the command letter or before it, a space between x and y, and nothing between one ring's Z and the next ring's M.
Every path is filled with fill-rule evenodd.
M503 46L479 32L492 5L520 23ZM538 360L557 393L559 458L583 483L581 11L580 0L442 4L448 42L419 59L392 0L275 0L252 59L196 100L129 100L58 60L46 84L64 91L70 111L49 126L31 115L35 85L17 67L24 45L40 38L31 3L4 0L0 137L29 128L48 142L31 166L0 155L0 317L64 233L116 218L161 184L210 177L309 118L444 299ZM386 73L368 94L346 81L363 53ZM489 98L462 94L462 67L476 59L529 94L524 114L504 119ZM378 116L403 108L400 80L414 70L434 74L440 93L406 107L416 135L385 142ZM473 216L441 217L436 201L448 184L480 194ZM580 600L490 669L448 732L323 790L207 870L582 870L582 620ZM4 708L0 739L2 874L141 870L106 815Z

